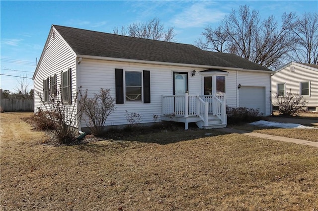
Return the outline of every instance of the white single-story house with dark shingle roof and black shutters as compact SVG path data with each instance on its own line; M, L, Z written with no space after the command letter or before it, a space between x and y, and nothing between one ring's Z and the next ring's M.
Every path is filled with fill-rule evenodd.
M52 25L33 80L34 92L46 102L57 87L70 104L79 87L89 96L110 89L116 98L106 121L110 127L126 125L125 114L136 112L141 123L179 121L187 129L188 122L225 127L226 105L270 115L271 73L237 55L193 45ZM36 112L37 95L34 105ZM81 121L79 129L85 127Z

